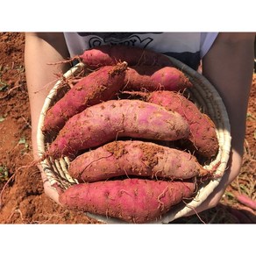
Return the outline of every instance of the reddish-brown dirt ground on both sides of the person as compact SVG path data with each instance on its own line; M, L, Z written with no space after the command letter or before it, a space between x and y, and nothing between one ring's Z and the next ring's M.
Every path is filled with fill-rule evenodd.
M31 118L25 82L24 33L0 32L0 224L96 224L82 213L53 203L32 162ZM255 224L256 211L238 201L243 194L256 200L256 75L247 114L245 158L217 207L181 217L180 224Z

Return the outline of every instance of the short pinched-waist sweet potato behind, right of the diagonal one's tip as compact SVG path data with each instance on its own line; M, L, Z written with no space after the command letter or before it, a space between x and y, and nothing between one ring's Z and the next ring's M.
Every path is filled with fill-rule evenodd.
M126 70L126 90L154 91L158 89L179 91L192 87L188 77L174 67L136 66Z

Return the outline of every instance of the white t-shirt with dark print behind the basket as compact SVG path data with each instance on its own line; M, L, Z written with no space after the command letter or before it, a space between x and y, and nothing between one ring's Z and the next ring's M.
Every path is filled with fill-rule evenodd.
M172 56L197 69L217 32L64 32L70 57L94 46L139 46Z

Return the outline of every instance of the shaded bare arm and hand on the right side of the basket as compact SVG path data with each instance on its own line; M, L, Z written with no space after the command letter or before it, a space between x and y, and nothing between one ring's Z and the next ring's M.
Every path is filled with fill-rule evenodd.
M246 112L252 85L254 33L220 33L203 58L203 75L216 87L231 122L231 158L219 186L197 212L215 207L239 174L245 139ZM193 212L191 212L193 214Z

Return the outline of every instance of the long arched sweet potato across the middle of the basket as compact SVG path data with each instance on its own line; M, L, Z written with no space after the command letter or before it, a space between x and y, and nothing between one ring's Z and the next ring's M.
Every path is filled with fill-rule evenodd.
M110 100L68 119L48 153L71 157L122 137L173 141L188 134L187 121L174 111L139 100Z

